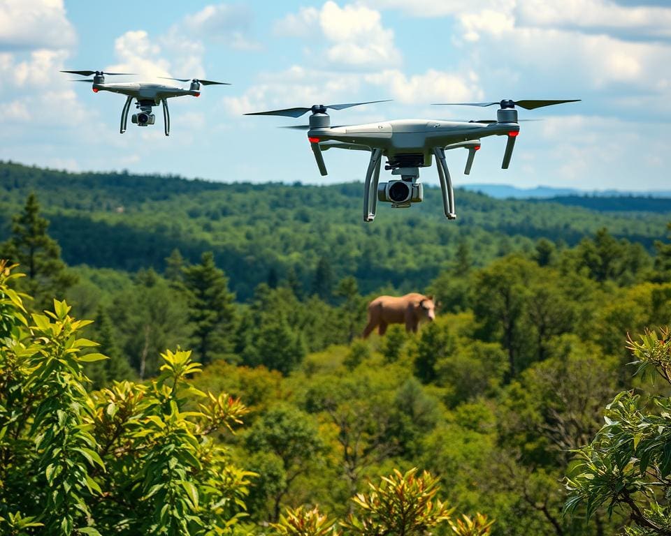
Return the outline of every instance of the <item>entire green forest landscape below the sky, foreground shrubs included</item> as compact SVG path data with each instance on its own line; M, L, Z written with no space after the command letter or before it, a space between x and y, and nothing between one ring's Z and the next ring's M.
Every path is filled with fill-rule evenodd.
M0 528L671 534L666 201L361 189L0 165Z

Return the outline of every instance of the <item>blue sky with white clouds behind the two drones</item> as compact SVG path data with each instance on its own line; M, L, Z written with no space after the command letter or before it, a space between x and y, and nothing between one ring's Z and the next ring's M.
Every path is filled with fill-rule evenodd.
M368 154L328 151L321 177L305 133L277 128L307 116L243 114L393 99L331 121L493 119L496 106L431 103L580 98L519 110L542 121L521 124L508 170L504 137L482 140L470 175L466 151L448 151L455 186L669 190L670 66L668 0L0 0L0 160L335 184L363 180ZM63 69L231 85L168 101L170 137L160 107L154 126L120 135L124 97ZM421 179L438 184L435 166Z

